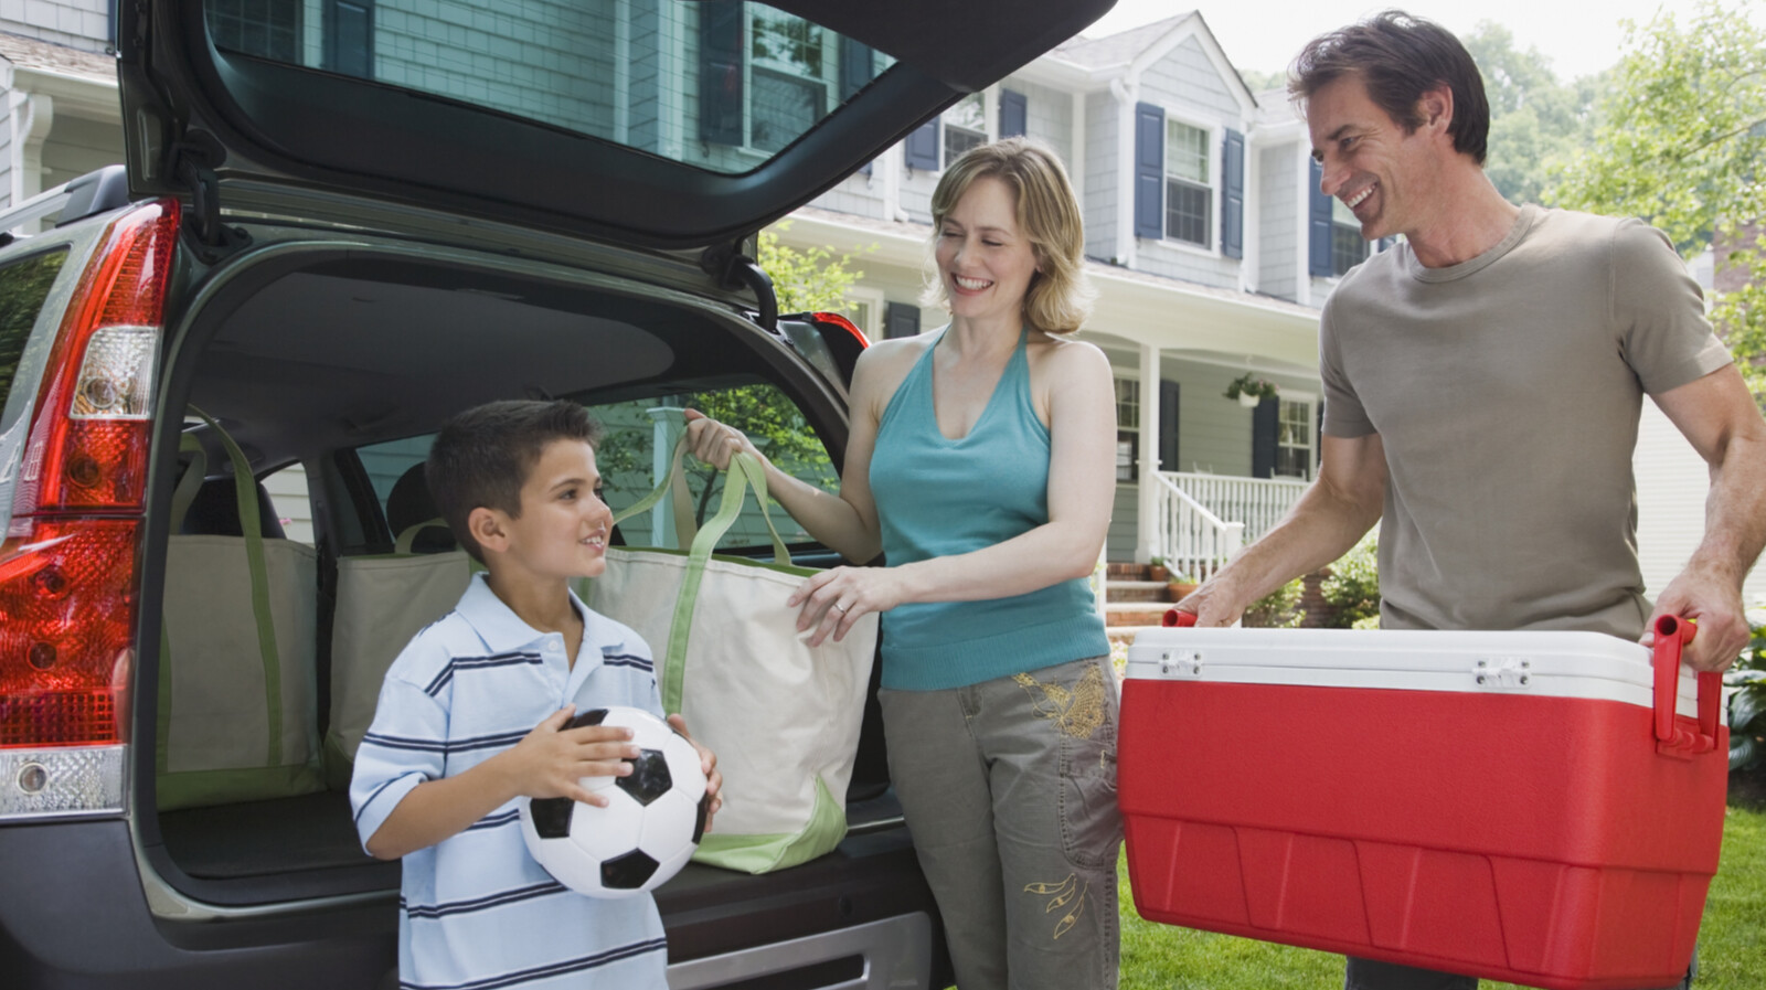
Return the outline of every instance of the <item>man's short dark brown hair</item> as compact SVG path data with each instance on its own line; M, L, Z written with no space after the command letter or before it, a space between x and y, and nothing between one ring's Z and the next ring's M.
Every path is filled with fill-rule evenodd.
M1483 164L1491 134L1491 102L1483 76L1453 32L1404 11L1381 11L1365 21L1307 42L1287 69L1287 95L1305 101L1342 76L1360 76L1374 106L1385 109L1406 134L1423 125L1416 101L1448 86L1453 150Z

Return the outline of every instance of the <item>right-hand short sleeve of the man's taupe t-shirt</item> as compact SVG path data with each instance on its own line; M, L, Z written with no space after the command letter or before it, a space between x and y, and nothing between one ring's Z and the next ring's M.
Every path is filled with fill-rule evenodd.
M1641 221L1618 224L1611 279L1619 348L1644 392L1660 395L1734 360L1704 319L1699 282L1662 231Z

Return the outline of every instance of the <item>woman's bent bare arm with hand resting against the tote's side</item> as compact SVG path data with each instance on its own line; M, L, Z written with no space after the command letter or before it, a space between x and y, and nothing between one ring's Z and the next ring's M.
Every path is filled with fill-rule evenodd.
M804 604L800 630L819 626L811 644L830 634L841 639L858 616L906 602L1008 598L1091 574L1116 491L1109 358L1090 344L1061 342L1042 371L1049 392L1049 521L966 554L811 577L788 602Z

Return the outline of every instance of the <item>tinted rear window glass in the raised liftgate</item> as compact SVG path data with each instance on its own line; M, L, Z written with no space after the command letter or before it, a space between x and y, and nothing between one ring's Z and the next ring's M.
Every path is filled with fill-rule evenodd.
M207 0L226 53L358 76L743 173L892 60L742 0Z

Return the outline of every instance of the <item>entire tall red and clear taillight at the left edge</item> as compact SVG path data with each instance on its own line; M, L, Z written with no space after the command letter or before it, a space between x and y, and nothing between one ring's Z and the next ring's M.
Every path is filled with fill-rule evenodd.
M122 808L136 554L177 201L104 233L49 351L0 544L0 817Z

